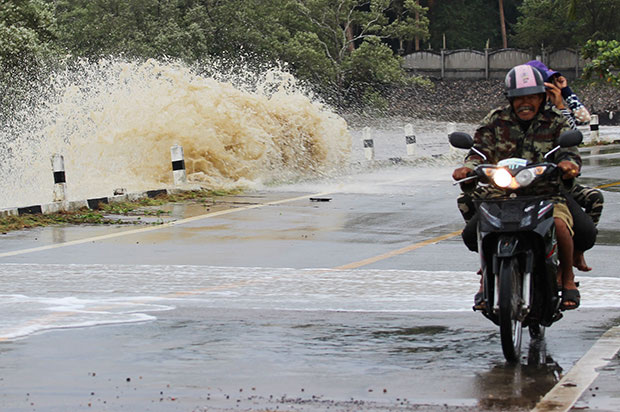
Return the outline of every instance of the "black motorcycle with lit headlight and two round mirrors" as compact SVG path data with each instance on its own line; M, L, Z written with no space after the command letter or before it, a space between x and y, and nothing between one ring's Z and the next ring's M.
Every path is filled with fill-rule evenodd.
M578 130L563 133L545 160L561 147L577 146L582 138ZM454 132L449 141L486 160L467 133ZM531 189L558 179L560 169L554 163L511 158L497 165L481 164L472 176L455 183L475 181L504 193L474 204L484 289L482 314L499 326L502 351L509 362L519 360L523 328L529 329L532 339L542 339L545 327L562 318L553 202L549 196L532 194Z

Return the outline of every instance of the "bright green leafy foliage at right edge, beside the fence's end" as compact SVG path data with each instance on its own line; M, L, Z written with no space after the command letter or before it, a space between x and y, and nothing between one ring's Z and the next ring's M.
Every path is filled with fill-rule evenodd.
M584 59L591 61L584 68L587 79L597 78L620 87L620 42L618 40L589 40L582 50Z

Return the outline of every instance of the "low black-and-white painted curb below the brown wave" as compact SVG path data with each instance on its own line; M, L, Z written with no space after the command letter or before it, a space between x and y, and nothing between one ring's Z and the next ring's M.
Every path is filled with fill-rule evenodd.
M57 212L75 212L83 208L97 210L101 204L133 202L144 198L155 198L161 195L175 195L192 190L201 190L198 185L188 185L186 188L155 189L144 192L114 195L109 197L96 197L86 200L72 200L62 202L43 203L24 207L12 207L0 209L0 218L8 216L22 216L34 214L51 214Z

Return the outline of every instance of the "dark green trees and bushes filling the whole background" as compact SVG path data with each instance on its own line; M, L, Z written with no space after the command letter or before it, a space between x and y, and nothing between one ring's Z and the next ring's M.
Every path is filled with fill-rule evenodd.
M374 102L415 82L401 54L581 49L619 39L618 21L618 0L4 0L0 91L42 62L125 56L281 64L335 103ZM615 58L598 58L609 50ZM617 47L585 52L597 61L593 78L617 71Z

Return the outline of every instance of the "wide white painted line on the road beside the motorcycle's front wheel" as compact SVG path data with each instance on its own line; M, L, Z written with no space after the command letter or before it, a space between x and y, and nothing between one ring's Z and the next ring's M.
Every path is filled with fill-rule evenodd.
M598 377L600 369L620 350L620 326L599 338L570 371L538 402L532 412L566 412Z

